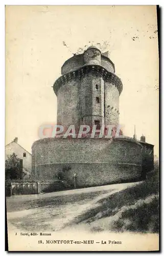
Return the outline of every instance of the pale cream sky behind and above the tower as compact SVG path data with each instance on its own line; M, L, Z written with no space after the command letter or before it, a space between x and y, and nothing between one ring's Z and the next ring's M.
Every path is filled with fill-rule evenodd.
M90 41L110 52L122 79L124 134L132 137L135 124L137 139L144 134L158 155L156 30L155 6L8 6L6 144L18 137L31 152L39 126L56 122L53 83L63 62Z

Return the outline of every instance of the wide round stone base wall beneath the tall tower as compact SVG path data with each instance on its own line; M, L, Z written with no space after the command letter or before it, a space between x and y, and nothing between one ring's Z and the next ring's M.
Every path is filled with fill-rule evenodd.
M136 181L142 173L140 149L129 138L41 139L32 146L32 171L40 181L62 181L63 189Z

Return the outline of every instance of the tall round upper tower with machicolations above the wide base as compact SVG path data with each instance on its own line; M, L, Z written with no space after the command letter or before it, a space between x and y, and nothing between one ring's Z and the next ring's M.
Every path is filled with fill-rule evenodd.
M95 46L65 61L54 83L57 124L118 124L123 84L114 72L112 61Z

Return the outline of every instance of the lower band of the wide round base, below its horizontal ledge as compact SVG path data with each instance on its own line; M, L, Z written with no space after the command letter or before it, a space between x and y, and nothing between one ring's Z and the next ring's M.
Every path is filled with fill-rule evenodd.
M63 180L67 181L70 186L74 185L76 174L76 186L85 187L137 180L141 176L142 167L115 163L58 163L41 165L39 172L38 178L41 180L46 179L48 173L51 173L51 182L59 179L58 174L63 172ZM49 182L44 184L47 187Z

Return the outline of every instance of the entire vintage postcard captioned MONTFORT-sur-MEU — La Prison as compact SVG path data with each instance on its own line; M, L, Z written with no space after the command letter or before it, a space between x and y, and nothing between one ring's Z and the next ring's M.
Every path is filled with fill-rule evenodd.
M6 6L9 251L159 250L157 6Z

